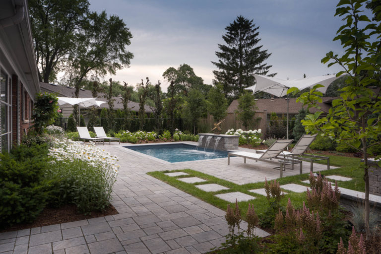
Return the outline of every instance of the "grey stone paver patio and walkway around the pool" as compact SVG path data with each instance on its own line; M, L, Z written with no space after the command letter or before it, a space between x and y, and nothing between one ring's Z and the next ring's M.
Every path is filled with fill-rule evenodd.
M183 142L195 144L195 142ZM151 176L151 171L192 169L235 184L276 179L279 171L265 162L232 157L169 163L124 148L97 145L118 156L118 179L111 203L119 214L0 233L1 254L198 254L225 242L225 211ZM241 149L247 151L250 149ZM253 151L253 150L250 150ZM314 164L314 171L326 170ZM303 173L310 164L303 163ZM286 170L283 176L299 174ZM247 226L243 223L243 227ZM268 233L257 229L264 237Z

